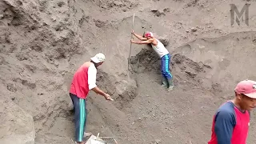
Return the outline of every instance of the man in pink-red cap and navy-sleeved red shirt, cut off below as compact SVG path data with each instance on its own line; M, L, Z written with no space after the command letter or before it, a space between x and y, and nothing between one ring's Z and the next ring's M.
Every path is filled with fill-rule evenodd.
M256 107L256 82L239 82L234 94L235 98L222 104L214 114L208 144L246 144L250 110Z

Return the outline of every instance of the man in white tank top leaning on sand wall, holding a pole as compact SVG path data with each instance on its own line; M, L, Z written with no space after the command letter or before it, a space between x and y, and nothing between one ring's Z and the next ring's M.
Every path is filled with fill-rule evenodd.
M135 34L134 30L131 30L131 33L134 34L140 41L135 42L134 40L130 40L131 43L136 44L151 44L154 51L161 58L161 71L162 71L162 86L166 86L168 90L173 90L174 88L174 78L172 74L170 74L169 66L170 66L170 54L169 51L166 50L166 47L160 42L157 38L154 38L151 32L146 33L143 38L141 35Z

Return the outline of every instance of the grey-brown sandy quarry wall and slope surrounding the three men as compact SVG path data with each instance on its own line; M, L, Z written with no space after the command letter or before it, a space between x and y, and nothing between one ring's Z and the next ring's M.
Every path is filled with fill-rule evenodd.
M8 134L33 135L34 130L34 143L72 143L70 80L83 62L103 52L106 62L97 84L115 101L90 92L86 131L122 144L206 143L213 114L233 98L235 84L256 80L256 2L247 2L249 26L230 25L230 4L241 10L246 2L2 0L0 94L1 102L12 104L2 105L10 111L1 118L7 114L2 121L14 122L9 118L14 115L27 122L29 116L18 113L22 109L34 124L26 131L1 126L0 142L5 130L17 129ZM151 30L169 40L174 91L160 86L160 61L149 46L132 45L128 73L133 14L135 32ZM253 112L248 144L256 138L254 118Z

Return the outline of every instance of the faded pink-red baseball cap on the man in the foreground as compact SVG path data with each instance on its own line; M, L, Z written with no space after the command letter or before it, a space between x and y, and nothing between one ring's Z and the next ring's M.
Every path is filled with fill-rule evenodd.
M251 80L244 80L238 82L234 89L238 94L245 94L247 97L256 98L256 82Z

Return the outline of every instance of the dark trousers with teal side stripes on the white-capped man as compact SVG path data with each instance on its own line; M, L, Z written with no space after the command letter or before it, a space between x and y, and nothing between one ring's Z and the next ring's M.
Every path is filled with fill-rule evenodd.
M70 94L74 106L75 139L82 142L86 127L86 100Z

